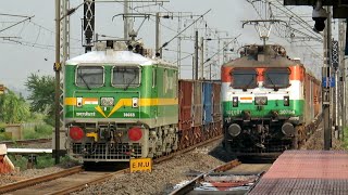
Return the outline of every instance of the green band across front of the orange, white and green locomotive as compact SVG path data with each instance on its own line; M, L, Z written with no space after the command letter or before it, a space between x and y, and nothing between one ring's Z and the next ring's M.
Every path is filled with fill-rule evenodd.
M278 113L278 116L294 117L303 116L303 100L290 100L289 106L284 106L283 100L269 100L266 105L258 106L252 103L238 103L237 107L233 107L233 102L223 102L223 117L239 118L243 116L243 110L249 110L251 118L268 118L272 117L272 110Z

